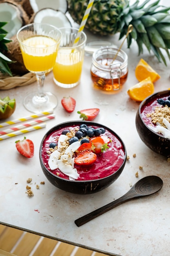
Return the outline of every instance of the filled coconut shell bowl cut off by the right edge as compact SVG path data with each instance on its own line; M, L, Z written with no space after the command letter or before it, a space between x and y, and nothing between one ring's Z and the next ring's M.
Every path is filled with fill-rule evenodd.
M170 157L170 112L165 113L169 107L170 90L154 93L140 103L135 120L144 144L165 157Z

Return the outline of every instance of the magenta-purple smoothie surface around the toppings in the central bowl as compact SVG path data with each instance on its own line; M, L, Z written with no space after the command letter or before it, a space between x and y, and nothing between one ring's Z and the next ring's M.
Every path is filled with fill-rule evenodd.
M97 128L97 126L93 126ZM42 161L46 168L52 172L54 175L62 177L64 179L69 179L67 175L62 173L58 168L55 170L51 170L48 165L49 154L46 151L49 150L49 144L51 142L58 141L58 138L62 134L63 130L70 130L79 128L79 126L68 126L61 128L60 130L56 130L55 132L51 132L45 139L42 144ZM121 141L110 131L106 130L102 136L107 136L111 142L108 144L109 148L101 154L97 154L97 160L91 166L78 166L74 164L74 167L77 168L77 172L79 173L79 178L77 180L96 180L103 177L107 177L114 172L116 172L119 167L123 164L125 159L125 151L124 145L121 144Z

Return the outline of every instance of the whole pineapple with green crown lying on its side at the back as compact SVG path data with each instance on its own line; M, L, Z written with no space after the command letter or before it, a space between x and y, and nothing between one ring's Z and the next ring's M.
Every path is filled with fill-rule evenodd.
M148 4L146 0L139 4L137 0L130 5L129 0L95 0L86 22L86 28L94 34L113 35L120 32L119 39L126 35L128 25L133 25L132 32L127 37L128 48L132 39L137 42L139 54L143 45L155 54L159 62L166 65L161 52L165 49L170 54L170 7L159 6L159 1ZM68 11L73 20L80 24L86 10L88 0L67 0Z

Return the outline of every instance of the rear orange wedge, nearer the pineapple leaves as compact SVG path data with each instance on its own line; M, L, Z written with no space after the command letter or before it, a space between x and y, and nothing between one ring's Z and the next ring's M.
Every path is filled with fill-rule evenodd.
M137 80L140 82L150 76L152 82L156 82L161 76L152 69L152 67L144 61L142 58L140 59L139 63L135 69L135 76Z

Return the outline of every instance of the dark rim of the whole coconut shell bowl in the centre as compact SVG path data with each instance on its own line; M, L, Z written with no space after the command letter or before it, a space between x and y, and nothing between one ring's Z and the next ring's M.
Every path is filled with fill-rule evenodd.
M117 139L119 139L119 141L121 142L122 146L124 147L124 155L125 155L124 161L123 161L123 163L121 164L121 166L119 167L119 169L120 169L122 166L123 166L123 168L124 168L124 166L125 166L125 164L126 164L126 158L127 158L126 146L125 146L125 144L124 144L124 141L121 139L121 137L119 137L119 135L117 135L117 133L114 132L112 129L110 129L110 128L108 128L107 126L104 126L104 125L102 125L102 124L93 122L93 121L82 121L82 120L80 120L80 121L68 121L68 122L63 122L63 123L60 123L60 124L57 124L57 125L53 126L52 128L50 128L50 129L45 133L45 135L43 136L42 141L41 141L41 143L40 143L39 158L40 158L40 163L41 163L41 165L43 165L43 167L45 168L46 171L48 171L49 174L53 175L54 177L57 177L57 178L60 179L60 180L64 180L65 182L70 182L70 183L73 183L73 182L77 182L77 183L78 183L78 182L80 182L80 183L96 182L96 181L100 181L100 180L107 179L107 178L111 177L112 175L114 175L115 173L117 173L117 171L119 171L119 169L118 169L118 170L115 171L114 173L112 173L112 174L110 174L110 175L108 175L108 176L106 176L106 177L100 178L100 179L94 179L94 180L67 180L67 179L64 179L64 178L62 178L62 177L60 177L60 176L55 175L54 173L52 173L51 171L49 171L49 170L46 168L46 166L44 165L44 162L42 161L42 144L43 144L44 139L46 138L46 136L47 136L49 133L51 133L51 131L52 131L53 129L57 128L58 126L62 126L62 127L59 127L59 128L58 128L58 129L60 129L60 128L64 128L64 126L65 126L65 127L66 127L66 126L69 126L69 125L71 126L71 124L72 124L72 125L79 125L79 124L84 124L84 123L85 123L85 124L91 124L91 126L100 126L100 127L103 127L103 128L105 128L106 130L108 130L110 133L112 133L113 135L115 135L115 137L117 137ZM122 170L122 171L123 171L123 170Z

